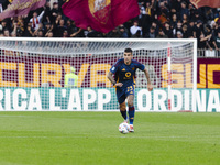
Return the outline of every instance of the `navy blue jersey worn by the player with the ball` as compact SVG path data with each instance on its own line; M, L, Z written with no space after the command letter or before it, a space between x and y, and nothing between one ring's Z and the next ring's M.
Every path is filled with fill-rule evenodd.
M130 65L124 64L124 58L119 59L110 69L117 82L122 82L124 88L135 85L136 68L144 70L145 66L132 59Z

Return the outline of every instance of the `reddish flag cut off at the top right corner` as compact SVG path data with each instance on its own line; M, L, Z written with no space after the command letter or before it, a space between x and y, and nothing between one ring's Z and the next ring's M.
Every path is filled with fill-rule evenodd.
M220 0L190 0L190 2L196 7L211 7L220 8Z

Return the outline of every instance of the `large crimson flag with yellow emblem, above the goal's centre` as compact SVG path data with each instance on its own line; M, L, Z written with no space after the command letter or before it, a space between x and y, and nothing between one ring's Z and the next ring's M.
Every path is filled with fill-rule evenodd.
M140 14L138 0L67 0L62 9L76 26L103 33Z

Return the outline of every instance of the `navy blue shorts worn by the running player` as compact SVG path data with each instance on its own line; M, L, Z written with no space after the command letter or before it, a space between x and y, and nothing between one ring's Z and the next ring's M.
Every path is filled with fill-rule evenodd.
M129 87L117 87L117 99L118 102L121 105L125 101L129 95L134 95L134 86Z

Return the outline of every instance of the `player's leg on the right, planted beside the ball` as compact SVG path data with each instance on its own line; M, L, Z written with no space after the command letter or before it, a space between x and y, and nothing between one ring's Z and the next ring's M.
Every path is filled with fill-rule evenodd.
M134 113L135 113L135 109L133 105L134 95L129 95L127 99L128 99L128 106L129 106L130 132L134 132L134 129L133 129Z

